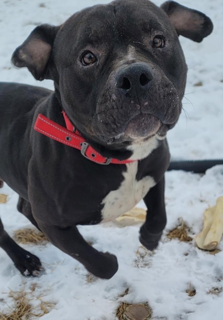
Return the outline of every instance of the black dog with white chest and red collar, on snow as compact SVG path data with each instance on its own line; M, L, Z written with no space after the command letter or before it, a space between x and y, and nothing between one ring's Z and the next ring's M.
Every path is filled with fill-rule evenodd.
M62 26L35 28L13 53L15 66L54 80L55 92L1 83L0 185L15 190L18 210L96 276L113 276L117 259L88 245L77 225L112 220L143 198L140 242L158 245L166 224L165 136L186 84L178 36L201 42L212 28L203 13L173 1L158 8L117 0ZM22 274L41 269L1 222L0 246Z

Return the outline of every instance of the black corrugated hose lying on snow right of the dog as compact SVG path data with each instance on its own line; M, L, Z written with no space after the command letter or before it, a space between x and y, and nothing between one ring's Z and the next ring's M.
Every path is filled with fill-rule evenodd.
M223 164L223 159L170 161L167 170L184 170L192 171L194 173L204 173L207 169L210 169L216 164Z

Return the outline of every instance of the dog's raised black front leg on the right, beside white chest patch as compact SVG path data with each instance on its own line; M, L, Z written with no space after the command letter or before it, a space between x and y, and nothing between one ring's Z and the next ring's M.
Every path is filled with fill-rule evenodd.
M153 250L158 246L167 221L164 203L164 185L163 176L143 199L147 207L147 214L145 223L140 228L139 240L149 250Z

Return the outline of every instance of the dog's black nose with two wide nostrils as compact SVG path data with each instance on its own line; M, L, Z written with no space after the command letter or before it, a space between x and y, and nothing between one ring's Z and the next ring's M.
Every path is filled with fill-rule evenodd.
M146 64L133 63L122 67L116 75L116 87L128 93L142 92L148 89L153 74Z

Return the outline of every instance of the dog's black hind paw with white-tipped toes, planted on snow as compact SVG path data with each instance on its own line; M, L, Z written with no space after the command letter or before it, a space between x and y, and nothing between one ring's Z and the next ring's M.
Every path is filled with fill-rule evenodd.
M39 271L43 270L39 258L27 252L19 257L15 263L15 267L21 272L23 276L39 276Z

